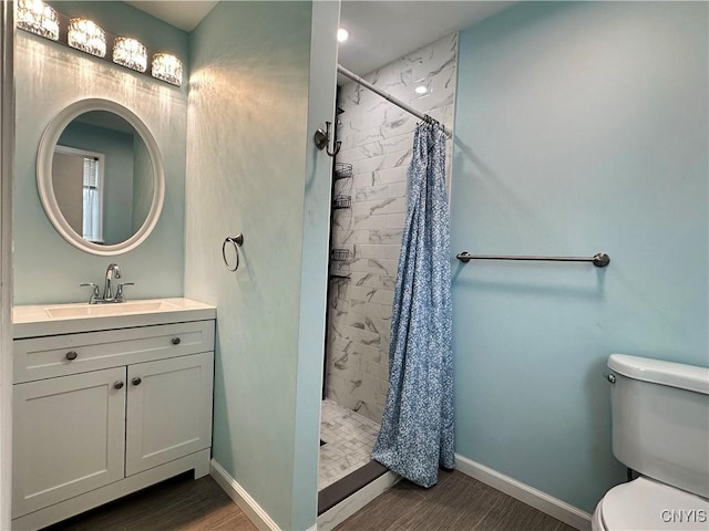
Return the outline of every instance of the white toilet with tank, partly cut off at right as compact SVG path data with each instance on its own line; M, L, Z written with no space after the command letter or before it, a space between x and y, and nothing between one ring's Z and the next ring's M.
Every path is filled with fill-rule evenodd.
M612 354L613 452L640 475L598 502L593 531L709 531L709 368Z

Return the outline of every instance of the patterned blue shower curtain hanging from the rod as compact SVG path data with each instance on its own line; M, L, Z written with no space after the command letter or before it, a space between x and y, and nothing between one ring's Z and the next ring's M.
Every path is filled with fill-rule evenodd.
M455 466L445 136L419 124L409 168L389 350L389 393L372 459L422 487Z

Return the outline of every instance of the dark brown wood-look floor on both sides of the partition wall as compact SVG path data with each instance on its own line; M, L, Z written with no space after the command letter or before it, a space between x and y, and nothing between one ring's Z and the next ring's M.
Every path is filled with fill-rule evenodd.
M205 477L188 475L145 489L45 531L256 531ZM573 528L453 471L422 489L400 481L336 531L573 531Z

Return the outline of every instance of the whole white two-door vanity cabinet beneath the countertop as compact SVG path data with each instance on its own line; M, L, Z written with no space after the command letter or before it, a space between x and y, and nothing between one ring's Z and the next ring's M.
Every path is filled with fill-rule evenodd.
M214 320L16 339L13 529L208 473Z

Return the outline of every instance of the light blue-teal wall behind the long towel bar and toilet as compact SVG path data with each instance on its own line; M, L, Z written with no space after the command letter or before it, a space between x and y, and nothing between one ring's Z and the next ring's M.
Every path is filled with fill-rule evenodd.
M526 2L460 34L458 451L593 511L614 352L709 364L708 4Z

